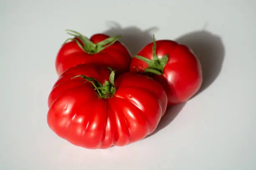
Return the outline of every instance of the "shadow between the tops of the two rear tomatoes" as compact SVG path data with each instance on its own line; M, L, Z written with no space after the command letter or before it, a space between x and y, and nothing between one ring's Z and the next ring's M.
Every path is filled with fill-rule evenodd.
M136 55L145 45L152 42L153 34L159 30L156 27L146 30L141 30L136 26L121 27L121 25L115 22L108 22L107 25L110 28L104 33L109 36L121 35L120 42L123 42L132 56Z

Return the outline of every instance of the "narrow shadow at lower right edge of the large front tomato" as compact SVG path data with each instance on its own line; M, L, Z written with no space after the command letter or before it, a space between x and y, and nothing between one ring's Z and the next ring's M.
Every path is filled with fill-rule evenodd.
M156 134L157 132L159 132L159 130L164 129L167 125L169 125L175 119L175 117L177 117L177 115L182 110L182 108L185 106L185 104L186 104L186 102L168 107L164 116L161 118L156 130L153 133L151 133L150 135L148 135L146 138Z

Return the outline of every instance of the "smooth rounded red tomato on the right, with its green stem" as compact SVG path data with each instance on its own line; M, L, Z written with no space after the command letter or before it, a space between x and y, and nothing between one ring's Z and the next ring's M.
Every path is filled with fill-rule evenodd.
M189 47L172 40L157 40L133 57L130 72L151 74L163 85L168 105L189 100L202 85L201 64Z

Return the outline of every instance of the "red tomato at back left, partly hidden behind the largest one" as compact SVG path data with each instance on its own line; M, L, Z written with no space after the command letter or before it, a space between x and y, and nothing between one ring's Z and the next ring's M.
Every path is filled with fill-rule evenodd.
M90 40L79 32L68 30L69 38L60 48L56 57L58 75L79 64L93 64L111 67L116 72L129 70L131 55L127 48L118 41L118 37L105 34L92 35Z

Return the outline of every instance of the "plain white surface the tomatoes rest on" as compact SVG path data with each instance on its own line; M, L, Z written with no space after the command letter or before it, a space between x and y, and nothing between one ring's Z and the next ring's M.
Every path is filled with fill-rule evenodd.
M0 169L256 170L255 9L255 0L1 0ZM210 85L150 138L76 147L46 123L65 29L123 34L132 52L152 33L179 38L200 55Z

